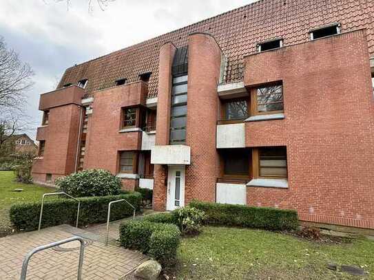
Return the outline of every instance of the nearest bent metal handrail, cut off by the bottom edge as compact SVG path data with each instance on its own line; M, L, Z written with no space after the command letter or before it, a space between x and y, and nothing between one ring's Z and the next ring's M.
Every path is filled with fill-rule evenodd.
M28 263L32 255L34 255L35 253L41 250L49 249L49 248L56 247L61 244L69 243L69 242L76 241L76 240L81 242L80 250L79 250L78 277L76 279L81 280L82 279L82 268L83 268L83 257L85 253L85 240L79 236L70 237L67 239L63 239L61 241L52 242L50 244L42 245L42 246L32 249L30 252L28 252L28 255L25 256L25 259L23 259L20 280L26 279L26 274L28 273Z

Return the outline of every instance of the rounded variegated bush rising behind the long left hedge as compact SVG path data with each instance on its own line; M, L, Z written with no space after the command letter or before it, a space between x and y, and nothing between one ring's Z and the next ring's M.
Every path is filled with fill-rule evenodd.
M87 169L56 180L56 185L74 197L119 195L121 180L109 171Z

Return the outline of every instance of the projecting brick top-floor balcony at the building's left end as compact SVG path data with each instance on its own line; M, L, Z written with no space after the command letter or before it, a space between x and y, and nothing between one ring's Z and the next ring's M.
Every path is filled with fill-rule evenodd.
M39 110L44 111L52 107L59 107L68 104L81 105L81 99L84 94L85 91L76 85L41 94Z

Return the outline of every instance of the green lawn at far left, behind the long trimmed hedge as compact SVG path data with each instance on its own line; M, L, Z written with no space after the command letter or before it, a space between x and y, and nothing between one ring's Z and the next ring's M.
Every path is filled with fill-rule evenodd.
M0 236L12 230L9 220L9 209L12 204L39 201L43 193L55 191L37 184L21 184L15 182L14 178L13 171L0 171ZM23 189L23 191L14 192L14 189Z

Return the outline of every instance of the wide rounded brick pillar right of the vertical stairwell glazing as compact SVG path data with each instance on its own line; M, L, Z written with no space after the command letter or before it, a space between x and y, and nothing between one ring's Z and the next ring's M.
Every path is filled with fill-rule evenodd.
M213 36L189 36L187 145L191 165L186 166L185 204L192 199L214 202L219 158L216 151L217 85L221 50Z

